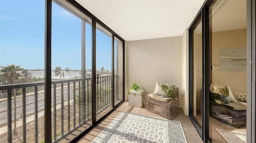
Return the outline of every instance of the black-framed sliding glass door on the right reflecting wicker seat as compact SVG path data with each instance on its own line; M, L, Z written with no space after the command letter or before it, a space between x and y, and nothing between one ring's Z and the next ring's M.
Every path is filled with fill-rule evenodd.
M189 117L204 142L255 142L255 6L207 0L189 27Z

